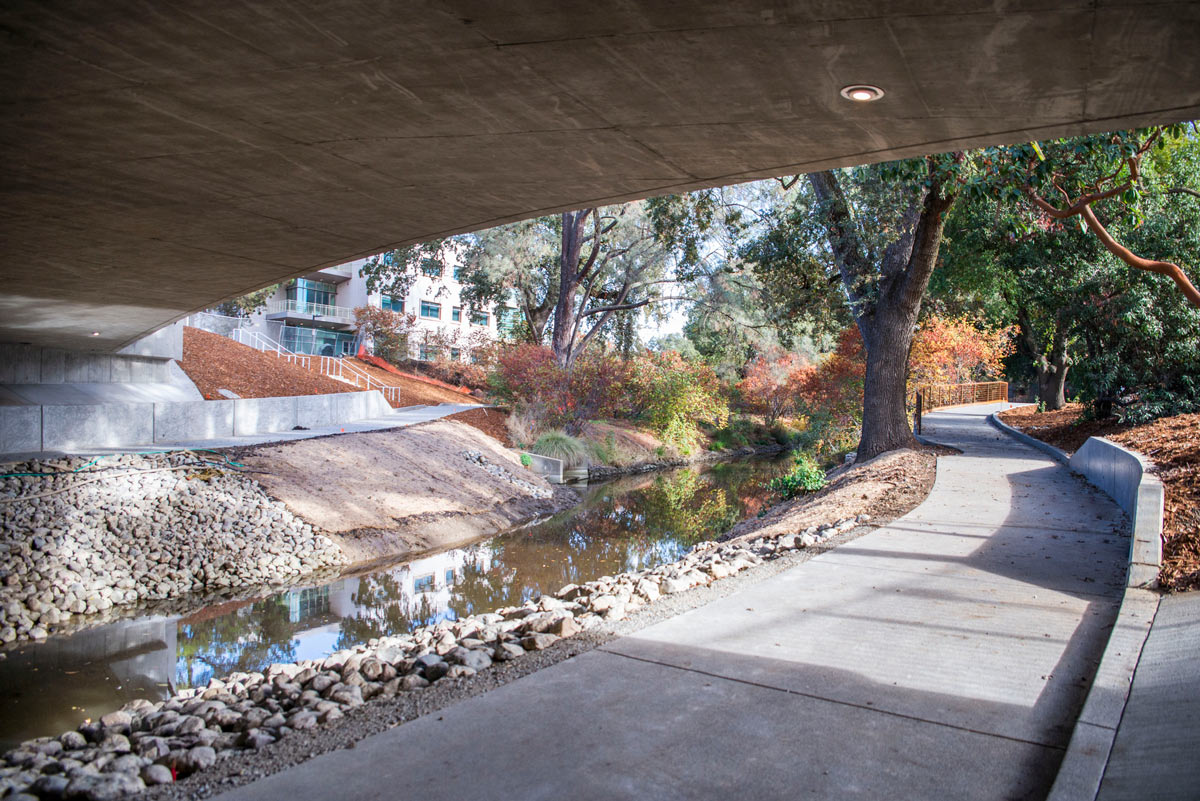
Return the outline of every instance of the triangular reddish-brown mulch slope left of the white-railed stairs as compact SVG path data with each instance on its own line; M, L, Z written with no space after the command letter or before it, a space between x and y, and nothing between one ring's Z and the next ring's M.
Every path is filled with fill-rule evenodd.
M179 366L209 401L221 399L217 390L229 390L242 398L278 398L353 392L355 389L228 337L191 326L184 329L184 361Z

